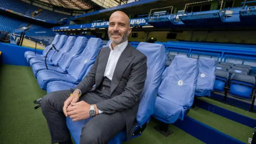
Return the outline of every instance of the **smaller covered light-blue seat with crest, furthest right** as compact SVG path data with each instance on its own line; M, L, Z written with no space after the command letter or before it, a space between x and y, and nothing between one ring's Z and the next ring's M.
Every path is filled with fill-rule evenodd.
M195 95L198 97L210 96L214 90L216 63L212 58L200 58L199 76Z

